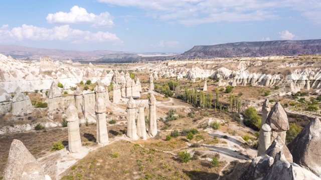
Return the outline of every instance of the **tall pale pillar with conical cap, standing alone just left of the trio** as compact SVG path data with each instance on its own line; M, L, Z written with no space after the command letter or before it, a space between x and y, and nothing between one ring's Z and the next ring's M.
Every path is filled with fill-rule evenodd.
M106 124L106 105L104 98L98 97L95 105L96 111L96 126L97 126L97 143L106 144L108 143L108 131Z

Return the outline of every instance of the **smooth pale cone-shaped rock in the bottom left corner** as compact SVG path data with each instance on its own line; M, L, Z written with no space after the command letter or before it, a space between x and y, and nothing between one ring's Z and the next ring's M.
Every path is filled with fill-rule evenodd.
M50 180L44 168L29 152L22 141L14 139L11 143L4 180Z

